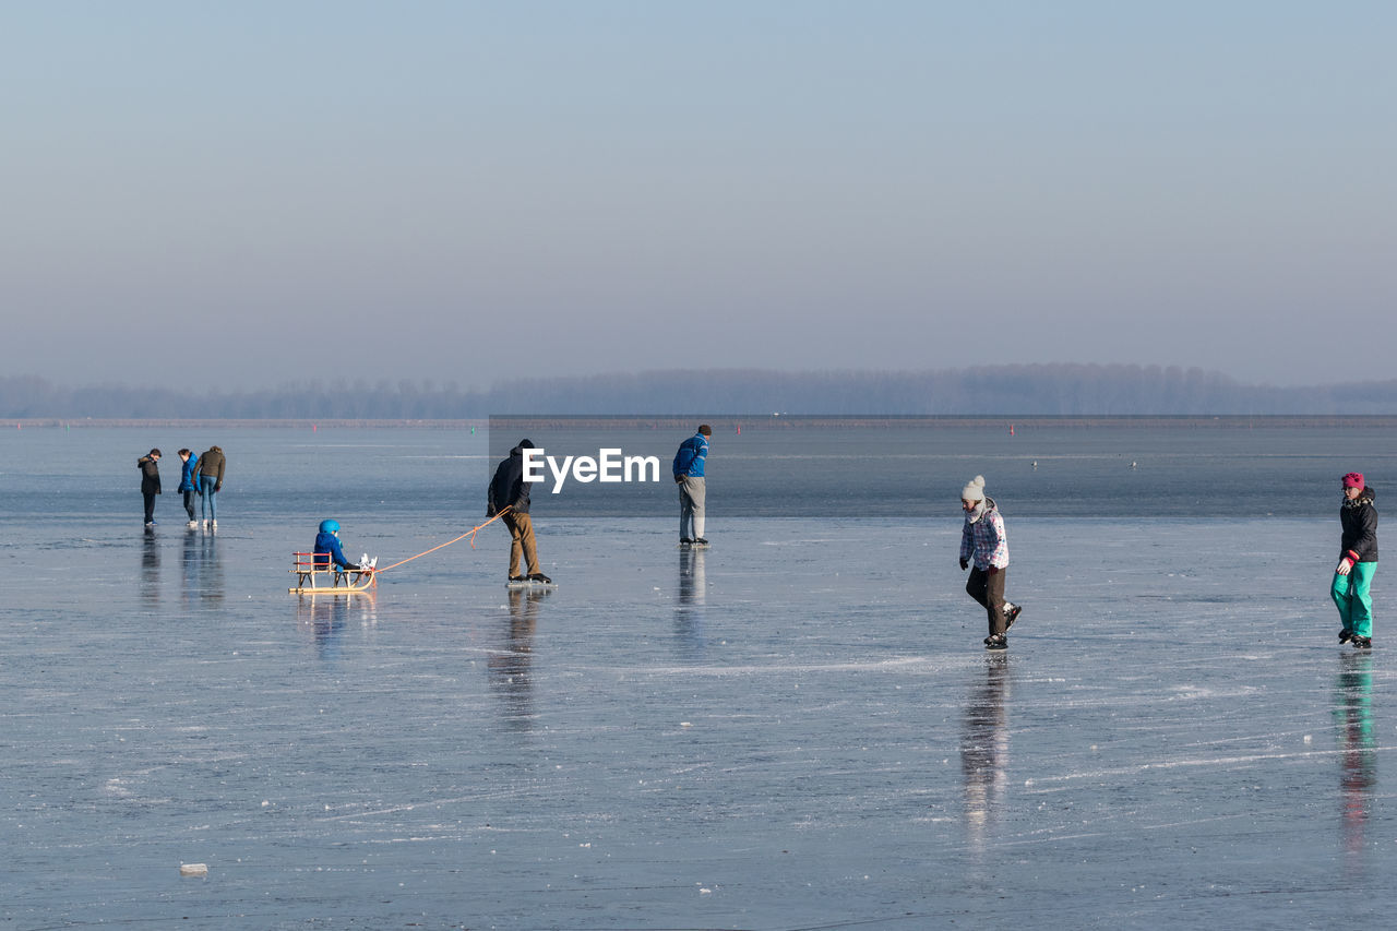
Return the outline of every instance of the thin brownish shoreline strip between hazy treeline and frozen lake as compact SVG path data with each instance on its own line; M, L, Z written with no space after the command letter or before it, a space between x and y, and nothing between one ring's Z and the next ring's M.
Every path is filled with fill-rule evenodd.
M1111 429L1111 428L1155 428L1155 429L1256 429L1256 428L1345 428L1345 429L1397 429L1397 414L1370 415L1246 415L1221 414L1215 417L1199 417L1192 414L1122 414L1102 417L1074 417L1074 415L522 415L510 414L492 418L471 419L218 419L218 418L7 418L0 419L0 429L479 429L509 426L534 428L570 428L570 429L689 429L698 422L705 422L714 429L736 431L746 429L919 429L919 428L1003 428L1034 429L1044 426L1076 428L1076 429Z

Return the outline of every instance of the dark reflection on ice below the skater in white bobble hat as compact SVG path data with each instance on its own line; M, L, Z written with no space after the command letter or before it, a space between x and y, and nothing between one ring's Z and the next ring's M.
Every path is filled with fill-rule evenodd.
M986 657L983 678L965 696L961 719L961 773L965 777L965 832L982 853L1009 784L1009 657Z

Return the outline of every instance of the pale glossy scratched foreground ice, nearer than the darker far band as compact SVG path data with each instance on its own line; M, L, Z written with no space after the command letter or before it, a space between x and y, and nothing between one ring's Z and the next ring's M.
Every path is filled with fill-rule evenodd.
M231 479L217 534L166 495L147 535L130 472L119 507L0 516L6 927L1294 928L1393 903L1384 576L1376 649L1340 649L1333 514L1010 517L1027 607L995 656L954 500L715 513L705 552L538 507L555 590L504 589L493 526L346 601L286 593L319 510ZM386 563L476 498L337 513Z

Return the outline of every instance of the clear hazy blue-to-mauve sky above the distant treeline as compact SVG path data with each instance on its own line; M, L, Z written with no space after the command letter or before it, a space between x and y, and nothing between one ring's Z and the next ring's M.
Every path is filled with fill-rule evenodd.
M1393 377L1397 4L6 3L0 375Z

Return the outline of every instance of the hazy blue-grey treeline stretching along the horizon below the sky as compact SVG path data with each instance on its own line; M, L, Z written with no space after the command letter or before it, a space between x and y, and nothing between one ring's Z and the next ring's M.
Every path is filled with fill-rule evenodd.
M454 383L332 380L257 391L61 387L0 377L0 417L95 419L474 419L492 414L1355 415L1397 414L1397 380L1278 389L1203 369L1000 365L933 372L675 369Z

